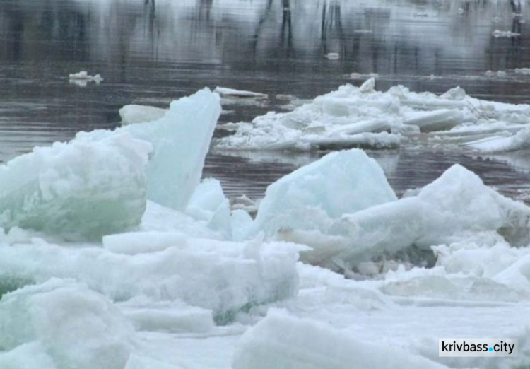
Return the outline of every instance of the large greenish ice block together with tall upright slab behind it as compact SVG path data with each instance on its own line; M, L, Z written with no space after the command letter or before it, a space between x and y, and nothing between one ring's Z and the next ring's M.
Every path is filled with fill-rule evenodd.
M0 227L98 239L139 225L146 198L184 210L219 114L201 90L151 124L81 132L1 165Z

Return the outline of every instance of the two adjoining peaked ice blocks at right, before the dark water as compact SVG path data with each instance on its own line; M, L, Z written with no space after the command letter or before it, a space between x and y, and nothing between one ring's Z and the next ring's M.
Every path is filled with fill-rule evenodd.
M326 163L329 160L313 165L319 175L324 173L322 177L309 166L269 186L254 227L269 237L309 246L311 250L301 254L305 262L346 271L359 269L373 257L408 247L429 250L468 233L494 231L512 245L530 242L530 209L502 197L466 168L454 165L417 194L395 201L377 164L370 167L367 158L358 156L356 165L340 160L355 168L346 189L338 189L336 183L344 181L335 179L343 173ZM365 160L364 168L360 158ZM379 175L370 175L374 168ZM349 187L358 182L359 187ZM326 203L329 194L341 202ZM333 211L326 206L334 206Z

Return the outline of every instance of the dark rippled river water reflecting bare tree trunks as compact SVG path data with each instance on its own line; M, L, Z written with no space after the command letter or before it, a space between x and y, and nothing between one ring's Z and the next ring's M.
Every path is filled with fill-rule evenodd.
M261 106L225 106L233 112L223 122L281 110L278 94L314 98L361 83L349 78L353 72L377 73L382 90L461 86L478 98L530 102L530 76L513 71L530 67L529 27L530 8L517 1L1 0L0 160L76 131L116 127L122 105L166 107L204 86L271 95ZM495 38L495 29L521 37ZM339 59L326 59L329 52ZM81 70L105 80L69 83L68 74ZM488 70L507 76L487 77ZM525 198L530 188L524 153L370 154L398 192L425 185L452 163L510 196ZM205 175L222 180L231 196L259 197L317 157L211 155Z

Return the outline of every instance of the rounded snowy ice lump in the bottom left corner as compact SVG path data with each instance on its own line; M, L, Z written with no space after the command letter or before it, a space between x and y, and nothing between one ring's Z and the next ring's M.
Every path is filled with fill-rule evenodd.
M122 369L134 335L102 295L59 279L4 295L0 332L2 351L37 342L57 369Z

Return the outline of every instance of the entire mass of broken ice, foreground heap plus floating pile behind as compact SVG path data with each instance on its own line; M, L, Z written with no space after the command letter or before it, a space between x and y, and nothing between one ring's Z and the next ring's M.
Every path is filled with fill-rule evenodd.
M348 147L271 184L255 218L201 181L207 88L36 147L0 166L0 368L526 368L530 208L460 165L399 199L351 146L524 148L529 110L369 80L236 124L214 145ZM447 336L519 354L439 358Z

